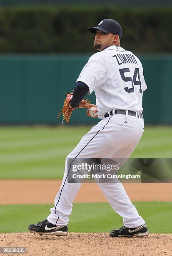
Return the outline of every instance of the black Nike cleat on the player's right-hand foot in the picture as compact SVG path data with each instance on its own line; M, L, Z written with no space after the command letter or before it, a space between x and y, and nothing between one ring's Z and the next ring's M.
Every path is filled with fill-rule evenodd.
M137 236L137 237L142 237L142 236L148 236L149 231L147 230L146 224L143 224L137 228L127 228L123 226L122 228L114 229L111 230L109 235L111 237L120 237L120 236L127 236L127 237L132 237L132 236Z

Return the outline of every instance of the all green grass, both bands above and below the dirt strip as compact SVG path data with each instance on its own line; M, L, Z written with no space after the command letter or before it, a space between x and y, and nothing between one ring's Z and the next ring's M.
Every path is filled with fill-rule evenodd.
M89 126L0 127L0 179L61 179L67 154ZM131 157L171 158L172 128L149 127ZM150 233L171 233L172 202L135 202ZM52 205L0 205L0 233L27 232L47 218ZM108 232L122 218L107 203L74 204L70 232Z

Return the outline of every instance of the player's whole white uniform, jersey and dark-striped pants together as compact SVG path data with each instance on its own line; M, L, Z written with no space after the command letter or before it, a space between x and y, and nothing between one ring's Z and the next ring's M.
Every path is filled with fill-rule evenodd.
M126 115L103 118L105 113L115 109L142 111L142 92L147 87L142 64L132 52L110 46L94 54L77 81L88 85L89 94L95 91L98 117L102 120L82 137L66 158L62 185L55 197L55 206L47 217L54 225L67 225L72 202L81 186L81 183L67 182L68 174L72 172L67 159L127 159L144 131L140 115L132 116L126 112ZM123 218L125 227L136 228L145 224L121 183L97 184L112 208Z

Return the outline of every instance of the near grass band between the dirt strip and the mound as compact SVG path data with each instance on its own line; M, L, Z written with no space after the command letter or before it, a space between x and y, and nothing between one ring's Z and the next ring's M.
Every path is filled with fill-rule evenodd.
M150 233L171 233L172 202L135 202ZM52 205L1 205L0 233L27 232L29 224L45 220ZM108 203L74 204L70 232L109 232L122 226L122 218Z

